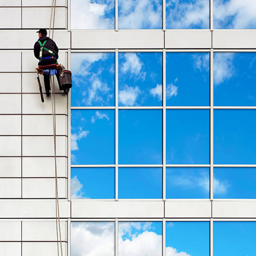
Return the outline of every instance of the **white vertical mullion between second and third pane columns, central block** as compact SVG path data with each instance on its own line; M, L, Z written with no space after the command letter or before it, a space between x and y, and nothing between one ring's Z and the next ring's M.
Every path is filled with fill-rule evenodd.
M165 0L163 0L165 2ZM163 200L166 199L166 50L163 49Z

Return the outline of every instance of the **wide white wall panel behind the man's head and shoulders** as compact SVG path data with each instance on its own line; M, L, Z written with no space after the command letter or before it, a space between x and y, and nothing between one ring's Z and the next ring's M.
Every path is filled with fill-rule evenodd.
M33 0L33 2L35 1ZM40 1L38 3L42 2ZM0 38L5 38L5 40L0 41L0 49L32 49L38 39L36 31L38 31L38 29L0 30ZM59 49L70 48L70 32L67 30L54 30L53 40L56 42Z

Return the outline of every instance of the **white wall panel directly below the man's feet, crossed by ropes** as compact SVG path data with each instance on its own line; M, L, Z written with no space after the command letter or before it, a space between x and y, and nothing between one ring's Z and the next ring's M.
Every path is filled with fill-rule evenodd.
M66 114L67 96L64 94L56 94L55 106L56 106L56 114ZM52 114L51 95L49 97L44 95L44 103L42 103L40 94L23 94L22 95L22 114Z

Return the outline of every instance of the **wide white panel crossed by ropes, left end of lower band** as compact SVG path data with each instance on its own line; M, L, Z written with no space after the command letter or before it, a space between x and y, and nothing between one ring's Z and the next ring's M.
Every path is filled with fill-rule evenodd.
M70 202L59 201L60 218L70 218ZM1 201L0 218L56 218L55 199ZM0 254L1 255L1 254Z

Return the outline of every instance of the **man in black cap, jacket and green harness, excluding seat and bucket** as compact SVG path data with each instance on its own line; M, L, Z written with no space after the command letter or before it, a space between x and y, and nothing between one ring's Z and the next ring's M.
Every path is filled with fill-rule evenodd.
M36 59L39 60L38 62L38 66L44 66L44 65L51 65L51 64L55 64L58 63L58 52L59 49L57 47L57 45L55 44L55 42L47 37L47 31L44 28L40 28L38 31L36 31L36 33L38 33L38 41L36 41L35 45L34 45L34 55L36 57ZM44 87L45 87L45 93L47 96L50 95L50 74L43 74L44 76ZM59 82L59 77L57 76L57 80L60 86L60 82Z

